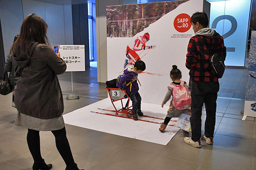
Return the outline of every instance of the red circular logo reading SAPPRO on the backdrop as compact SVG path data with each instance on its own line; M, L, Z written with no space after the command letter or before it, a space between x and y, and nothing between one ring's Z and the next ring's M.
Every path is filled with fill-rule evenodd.
M173 22L174 28L180 33L184 33L188 31L191 27L190 18L191 17L188 14L184 14L184 13L179 14L174 19L174 22Z

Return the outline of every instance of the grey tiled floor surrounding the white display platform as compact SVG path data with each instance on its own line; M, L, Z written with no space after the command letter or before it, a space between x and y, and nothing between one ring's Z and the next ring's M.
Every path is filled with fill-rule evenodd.
M241 121L246 84L244 69L226 69L220 79L214 144L202 141L196 149L183 142L191 133L179 131L168 145L158 145L72 125L66 125L69 143L78 166L86 170L256 170L256 121ZM64 114L107 97L104 84L74 83L80 100L64 100ZM71 83L60 80L64 97ZM0 170L31 170L33 159L26 143L27 129L15 127L16 109L11 95L0 96ZM202 133L206 118L202 111ZM158 129L156 129L158 130ZM54 136L40 132L41 152L52 170L64 170Z

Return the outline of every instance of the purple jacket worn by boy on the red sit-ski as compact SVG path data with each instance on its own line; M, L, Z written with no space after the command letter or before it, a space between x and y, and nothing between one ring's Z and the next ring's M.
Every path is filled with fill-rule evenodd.
M124 76L120 78L118 83L118 88L123 89L123 84L126 82L128 84L132 79L136 79L138 77L138 74L132 70L133 67L129 67L126 70L124 70ZM137 93L139 91L139 86L137 80L135 80L132 83L132 90L131 93ZM127 86L126 92L130 92L130 85Z

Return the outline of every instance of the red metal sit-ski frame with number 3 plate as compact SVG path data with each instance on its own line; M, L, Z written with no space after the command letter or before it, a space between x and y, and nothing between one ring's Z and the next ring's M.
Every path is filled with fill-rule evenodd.
M111 103L112 103L112 105L113 105L114 108L115 108L116 115L118 115L118 113L124 113L124 114L126 114L126 117L128 117L128 114L130 114L130 115L133 114L132 109L130 109L130 107L132 107L132 106L129 107L130 97L128 96L126 90L124 90L124 89L119 89L119 88L107 88L107 87L105 87L105 88L108 90L108 94L109 94L109 96L110 96ZM122 108L119 109L119 110L116 109L116 106L114 105L114 102L116 102L116 101L118 101L118 100L114 100L114 99L111 98L110 90L120 90L120 91L124 91L124 93L126 94L126 96L127 96L127 98L128 98L128 101L127 101L127 102L128 102L127 109L124 109L124 105L123 105L123 102L122 102L122 99L124 99L124 97L118 99L118 100L121 100ZM114 111L114 110L113 110L113 111Z

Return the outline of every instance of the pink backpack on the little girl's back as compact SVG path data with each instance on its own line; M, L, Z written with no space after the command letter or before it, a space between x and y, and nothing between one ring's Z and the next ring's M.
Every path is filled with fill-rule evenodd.
M180 82L180 85L170 84L168 86L172 88L172 104L178 110L188 109L191 106L191 98L188 94L188 90L184 87L184 81Z

